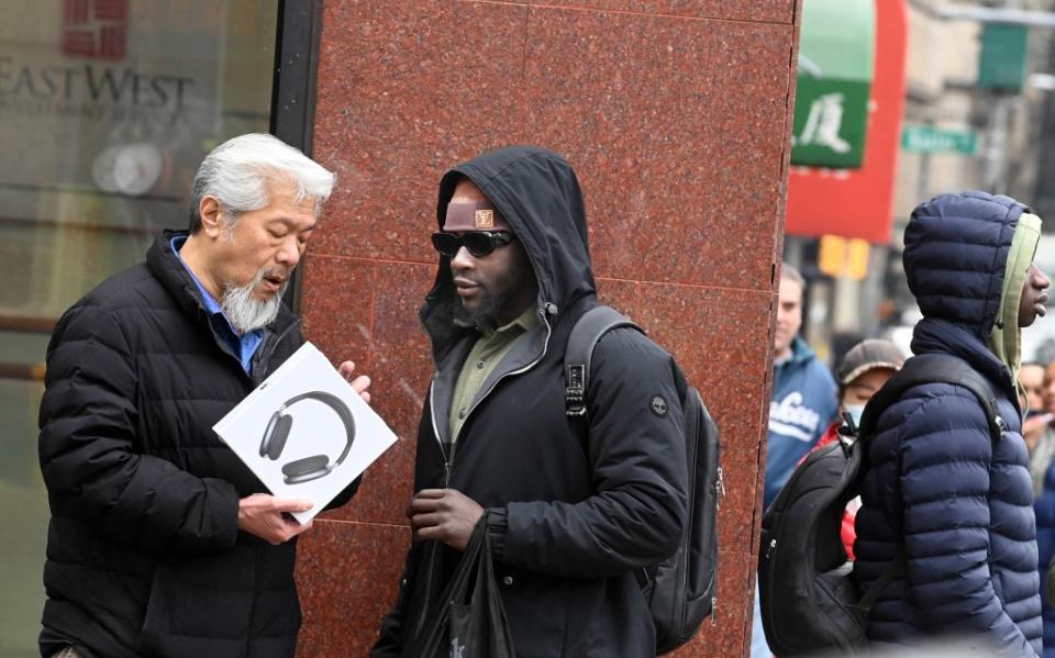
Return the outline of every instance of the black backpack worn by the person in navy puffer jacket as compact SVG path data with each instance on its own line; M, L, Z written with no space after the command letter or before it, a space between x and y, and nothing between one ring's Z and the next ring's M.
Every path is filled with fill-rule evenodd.
M879 415L908 389L933 382L969 389L986 412L993 443L1000 439L1006 425L989 382L957 357L926 354L907 360L868 401L859 428L847 421L840 440L808 455L762 518L758 590L766 642L775 655L855 655L867 646L868 612L904 572L904 557L860 594L840 535L843 511L860 493ZM855 433L852 443L843 438Z

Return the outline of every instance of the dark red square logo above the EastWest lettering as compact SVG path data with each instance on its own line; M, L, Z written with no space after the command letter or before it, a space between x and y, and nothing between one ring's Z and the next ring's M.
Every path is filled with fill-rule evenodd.
M63 53L96 59L124 59L129 0L65 0Z

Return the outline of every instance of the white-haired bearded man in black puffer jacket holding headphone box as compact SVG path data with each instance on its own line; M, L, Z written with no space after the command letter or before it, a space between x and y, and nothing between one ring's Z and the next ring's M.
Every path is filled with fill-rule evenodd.
M293 656L308 525L286 513L312 502L264 493L212 426L303 343L281 294L333 181L270 135L221 144L190 230L59 320L41 403L42 656ZM364 399L368 384L353 382Z

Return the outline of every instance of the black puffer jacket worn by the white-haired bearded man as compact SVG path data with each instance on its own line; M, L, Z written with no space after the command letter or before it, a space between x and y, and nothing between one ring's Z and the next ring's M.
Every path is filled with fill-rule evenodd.
M296 544L238 532L238 499L266 489L212 425L303 338L284 308L251 380L213 333L175 235L77 302L48 345L44 656L60 643L107 658L296 648Z

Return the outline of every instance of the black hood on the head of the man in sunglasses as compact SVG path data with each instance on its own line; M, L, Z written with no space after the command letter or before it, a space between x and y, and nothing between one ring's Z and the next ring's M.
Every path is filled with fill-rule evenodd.
M540 313L553 321L578 300L596 294L582 191L564 158L533 146L510 146L454 167L440 181L436 224L441 228L463 176L501 211L528 253L538 282ZM420 313L435 349L459 334L453 323L458 303L451 259L441 256L435 286Z

